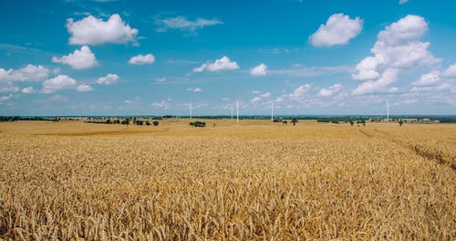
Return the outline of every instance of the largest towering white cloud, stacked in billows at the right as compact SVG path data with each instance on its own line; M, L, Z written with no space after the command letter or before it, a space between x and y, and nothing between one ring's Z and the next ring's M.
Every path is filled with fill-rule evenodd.
M361 60L352 74L352 79L364 81L353 94L390 92L388 86L398 79L400 70L438 63L440 59L428 50L430 43L419 41L427 30L424 18L409 15L380 31L370 50L373 56Z

